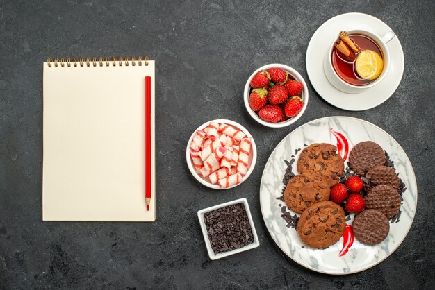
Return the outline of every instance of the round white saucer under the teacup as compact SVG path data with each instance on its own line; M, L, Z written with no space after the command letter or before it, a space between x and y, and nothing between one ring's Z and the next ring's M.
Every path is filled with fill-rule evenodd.
M311 37L306 49L306 72L311 85L325 101L343 110L362 111L375 108L393 95L402 80L404 56L402 45L396 35L386 44L391 60L385 78L375 87L370 87L358 94L341 92L327 80L323 70L323 60L338 32L354 29L371 31L377 35L392 31L381 20L363 13L346 13L332 17L322 24Z

